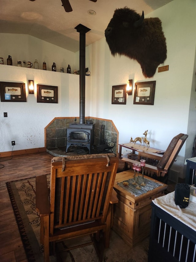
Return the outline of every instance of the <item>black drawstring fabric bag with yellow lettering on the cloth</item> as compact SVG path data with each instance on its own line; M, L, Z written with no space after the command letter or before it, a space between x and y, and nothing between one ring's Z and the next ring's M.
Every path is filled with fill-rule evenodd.
M185 208L189 204L190 197L190 185L179 183L175 185L175 204L180 208Z

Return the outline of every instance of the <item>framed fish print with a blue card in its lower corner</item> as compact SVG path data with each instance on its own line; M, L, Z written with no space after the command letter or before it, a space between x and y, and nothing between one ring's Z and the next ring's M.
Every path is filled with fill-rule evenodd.
M26 102L25 83L0 82L1 102Z

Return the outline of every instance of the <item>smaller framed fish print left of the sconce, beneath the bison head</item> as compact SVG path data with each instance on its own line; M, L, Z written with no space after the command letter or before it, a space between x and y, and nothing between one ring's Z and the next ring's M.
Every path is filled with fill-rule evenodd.
M112 86L111 103L126 105L126 84Z

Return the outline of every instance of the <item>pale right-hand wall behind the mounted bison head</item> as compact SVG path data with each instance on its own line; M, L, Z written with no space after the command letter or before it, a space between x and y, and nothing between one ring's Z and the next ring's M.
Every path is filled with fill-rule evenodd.
M188 133L186 157L191 157L196 133L195 80L192 83L196 72L195 11L195 1L176 0L148 15L161 19L168 50L164 65L169 65L169 71L156 72L153 78L145 79L136 61L112 57L104 38L89 46L93 54L91 115L112 119L119 131L119 143L128 143L131 136L142 136L148 129L150 146L165 150L175 135ZM126 105L111 104L112 86L126 84L128 79L134 83L156 80L154 105L134 105L133 96L128 95ZM182 173L184 160L185 145L174 164L176 171Z

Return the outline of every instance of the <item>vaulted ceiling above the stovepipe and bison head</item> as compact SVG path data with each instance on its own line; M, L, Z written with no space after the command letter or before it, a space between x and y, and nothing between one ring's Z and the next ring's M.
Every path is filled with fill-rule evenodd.
M73 11L67 13L61 0L0 0L0 33L28 34L77 52L79 33L74 28L78 24L91 29L86 34L86 45L90 45L104 37L115 9L127 6L146 15L171 1L69 0Z

